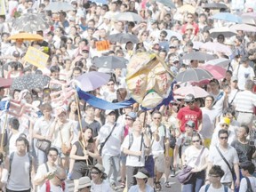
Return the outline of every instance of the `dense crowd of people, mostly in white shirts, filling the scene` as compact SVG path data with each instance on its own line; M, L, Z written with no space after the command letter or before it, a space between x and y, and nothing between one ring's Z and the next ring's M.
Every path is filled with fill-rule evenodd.
M52 12L44 10L49 0L9 0L6 14L0 15L1 81L28 74L51 77L47 86L33 90L0 84L2 190L68 191L67 180L72 180L75 192L172 191L171 177L190 167L192 177L182 182L181 191L256 191L256 30L244 28L228 37L210 32L235 24L213 20L217 12L245 13L256 25L256 3L173 0L173 8L154 0L67 2L73 9ZM206 6L213 3L222 8ZM186 4L195 9L184 10ZM49 28L35 31L44 40L10 41L9 36L20 32L12 21L31 12L49 21ZM122 12L137 13L143 20L118 20ZM137 36L138 44L108 41L119 33ZM100 50L100 42L108 42L107 49ZM198 42L218 42L231 52L203 49ZM28 46L49 55L45 68L24 60ZM129 65L136 53L155 52L175 78L204 65L205 60L182 60L198 51L228 60L222 66L225 76L196 84L209 93L206 97L186 92L147 111L138 103L103 110L79 100L70 83L90 71L108 73L108 83L90 94L116 103L131 96L126 69L96 68L95 58L118 56ZM172 92L195 86L182 83L176 81Z

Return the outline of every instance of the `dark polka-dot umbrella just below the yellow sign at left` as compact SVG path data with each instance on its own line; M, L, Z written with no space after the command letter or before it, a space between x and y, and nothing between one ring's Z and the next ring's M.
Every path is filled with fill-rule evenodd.
M36 88L44 88L49 84L51 78L39 74L28 74L13 79L12 90L32 90Z

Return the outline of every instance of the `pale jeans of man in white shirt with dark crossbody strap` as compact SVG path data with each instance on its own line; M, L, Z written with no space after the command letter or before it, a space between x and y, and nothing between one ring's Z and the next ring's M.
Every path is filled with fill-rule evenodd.
M116 183L120 172L120 156L102 156L102 164L110 183Z

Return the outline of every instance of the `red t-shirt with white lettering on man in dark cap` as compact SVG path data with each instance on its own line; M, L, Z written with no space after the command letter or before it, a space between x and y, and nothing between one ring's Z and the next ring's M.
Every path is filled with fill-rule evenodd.
M190 109L188 106L184 108L180 108L180 111L178 112L177 118L181 121L180 131L185 132L185 124L192 120L195 122L196 127L195 129L198 129L198 120L202 120L202 110L200 108L197 108L196 106L193 109Z

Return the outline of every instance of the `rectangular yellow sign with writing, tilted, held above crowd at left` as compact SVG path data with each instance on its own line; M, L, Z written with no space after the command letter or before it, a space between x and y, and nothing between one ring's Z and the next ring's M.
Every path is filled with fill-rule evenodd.
M28 51L24 57L28 63L36 66L37 68L45 68L48 58L49 55L31 46L28 47Z

